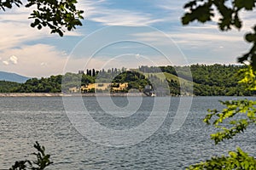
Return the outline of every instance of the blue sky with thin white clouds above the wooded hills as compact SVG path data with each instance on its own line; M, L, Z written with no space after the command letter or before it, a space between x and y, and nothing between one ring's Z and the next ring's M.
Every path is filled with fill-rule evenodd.
M218 16L205 25L182 26L187 1L80 0L83 26L50 35L30 27L31 9L0 13L0 71L49 77L87 68L138 65L235 64L249 44L243 35L255 23L242 13L241 31L220 32Z

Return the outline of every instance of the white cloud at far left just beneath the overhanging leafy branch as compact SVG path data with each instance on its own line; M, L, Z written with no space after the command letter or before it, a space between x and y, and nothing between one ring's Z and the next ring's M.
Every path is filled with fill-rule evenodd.
M49 28L38 30L32 28L28 17L32 9L20 7L12 8L7 12L0 14L0 51L6 48L15 48L22 45L24 42L36 41L45 37L59 37L56 34L50 34ZM75 31L66 31L66 36L79 36Z

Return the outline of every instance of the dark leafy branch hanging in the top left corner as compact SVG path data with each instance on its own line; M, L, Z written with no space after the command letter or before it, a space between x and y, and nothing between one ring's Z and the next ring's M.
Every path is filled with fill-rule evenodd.
M41 30L49 27L50 33L58 33L61 37L65 30L72 31L76 26L82 26L83 10L76 8L76 0L27 0L25 7L32 8L29 19L32 19L31 26ZM0 0L0 9L5 11L14 6L21 7L20 0Z

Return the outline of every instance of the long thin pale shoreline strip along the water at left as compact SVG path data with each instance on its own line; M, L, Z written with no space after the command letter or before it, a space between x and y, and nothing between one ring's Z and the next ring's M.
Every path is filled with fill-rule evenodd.
M62 93L0 93L0 97L126 97L126 96L146 96L143 93L129 93L129 94L62 94Z

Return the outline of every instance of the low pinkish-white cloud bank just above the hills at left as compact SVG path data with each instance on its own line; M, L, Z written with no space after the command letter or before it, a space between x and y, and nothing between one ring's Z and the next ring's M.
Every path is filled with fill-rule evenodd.
M1 70L15 72L27 77L49 77L67 71L78 72L81 69L86 69L84 66L88 61L88 58L77 59L73 57L68 59L67 54L45 44L21 46L1 52L1 56L9 56L10 54L19 55L19 62L16 65L10 65L10 58L3 58L4 61L0 64ZM87 67L101 68L105 62L102 59L90 59L90 65Z

